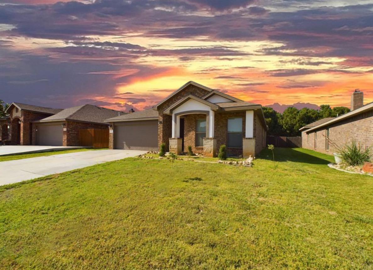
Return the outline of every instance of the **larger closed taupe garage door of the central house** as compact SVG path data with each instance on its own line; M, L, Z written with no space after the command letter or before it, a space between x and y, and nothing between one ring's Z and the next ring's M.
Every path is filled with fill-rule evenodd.
M157 150L158 120L115 123L114 148L133 150Z

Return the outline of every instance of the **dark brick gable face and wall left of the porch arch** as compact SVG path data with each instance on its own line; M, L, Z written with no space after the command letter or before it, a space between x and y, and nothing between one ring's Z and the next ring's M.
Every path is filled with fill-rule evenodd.
M158 125L158 146L162 143L166 143L166 149L169 148L169 138L172 137L172 117L170 115L165 115L163 112L169 108L172 104L179 101L188 95L194 95L199 98L206 96L209 91L199 88L194 85L189 85L184 88L181 92L169 98L159 107L159 117L158 121L162 124Z

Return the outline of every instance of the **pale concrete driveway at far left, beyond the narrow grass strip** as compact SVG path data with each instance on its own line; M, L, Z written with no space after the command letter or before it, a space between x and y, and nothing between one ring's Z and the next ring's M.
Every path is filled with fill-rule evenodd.
M84 147L75 146L39 146L39 145L2 145L0 146L0 156L20 155L38 152L48 152L57 150L69 150Z

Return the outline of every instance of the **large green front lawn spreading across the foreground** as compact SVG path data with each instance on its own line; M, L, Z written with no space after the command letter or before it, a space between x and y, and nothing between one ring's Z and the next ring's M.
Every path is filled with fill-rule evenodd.
M0 192L1 269L373 269L373 178L128 158Z

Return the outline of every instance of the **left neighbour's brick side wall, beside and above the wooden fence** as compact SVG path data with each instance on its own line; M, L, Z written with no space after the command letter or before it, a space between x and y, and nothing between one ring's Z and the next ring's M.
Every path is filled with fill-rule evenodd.
M108 129L109 125L66 121L66 131L63 131L63 146L79 146L79 130L87 128Z

